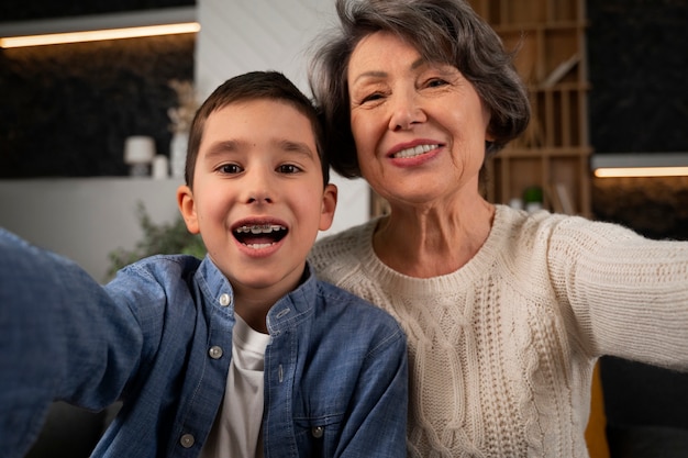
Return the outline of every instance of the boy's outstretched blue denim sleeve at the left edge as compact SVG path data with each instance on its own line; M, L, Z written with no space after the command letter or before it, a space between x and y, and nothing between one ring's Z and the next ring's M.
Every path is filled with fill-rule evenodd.
M92 410L113 402L141 340L127 308L76 264L0 228L2 456L24 456L53 400Z

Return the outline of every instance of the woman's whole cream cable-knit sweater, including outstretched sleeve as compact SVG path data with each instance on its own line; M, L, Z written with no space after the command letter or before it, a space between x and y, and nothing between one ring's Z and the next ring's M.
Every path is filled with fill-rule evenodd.
M406 329L409 457L587 457L600 355L688 370L688 243L498 205L468 264L417 279L377 258L375 226L310 261Z

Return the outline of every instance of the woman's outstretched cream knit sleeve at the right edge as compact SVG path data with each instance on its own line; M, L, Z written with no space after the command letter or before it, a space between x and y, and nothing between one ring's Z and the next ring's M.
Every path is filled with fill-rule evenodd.
M552 284L591 356L688 369L688 243L565 217L548 244Z

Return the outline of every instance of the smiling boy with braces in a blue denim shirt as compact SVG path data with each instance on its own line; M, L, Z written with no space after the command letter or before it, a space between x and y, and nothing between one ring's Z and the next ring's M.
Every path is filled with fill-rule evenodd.
M0 232L3 456L53 399L123 401L93 456L404 456L401 329L306 264L336 204L321 145L289 80L238 76L199 109L177 192L204 260L147 258L100 287Z

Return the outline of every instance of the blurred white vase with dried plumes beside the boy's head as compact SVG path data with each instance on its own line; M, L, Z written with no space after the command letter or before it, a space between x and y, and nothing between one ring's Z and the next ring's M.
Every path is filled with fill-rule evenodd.
M198 109L198 100L192 81L173 79L169 81L169 87L177 92L177 107L167 110L171 121L169 130L173 132L169 163L173 178L181 178L186 165L189 127Z

